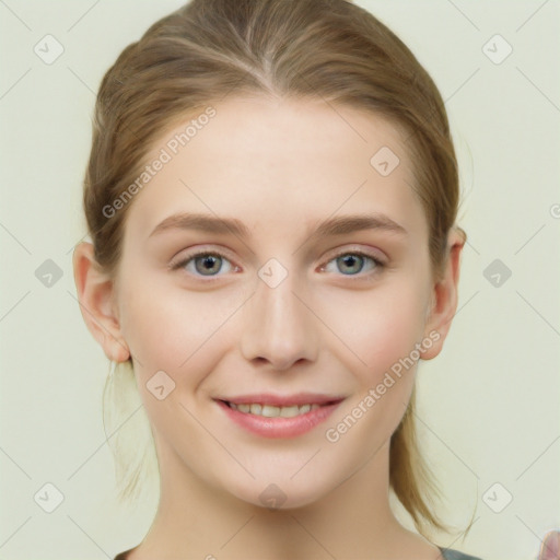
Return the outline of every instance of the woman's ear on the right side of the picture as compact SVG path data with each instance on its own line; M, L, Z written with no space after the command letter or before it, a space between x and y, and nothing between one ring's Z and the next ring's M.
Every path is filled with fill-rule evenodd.
M466 235L462 230L450 231L443 276L433 287L431 310L424 326L424 337L432 339L433 343L422 351L422 360L431 360L442 351L451 322L457 311L460 252L465 242Z

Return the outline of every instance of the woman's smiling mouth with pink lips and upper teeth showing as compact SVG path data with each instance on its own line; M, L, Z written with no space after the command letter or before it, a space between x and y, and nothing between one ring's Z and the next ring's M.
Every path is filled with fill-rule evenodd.
M343 397L252 396L214 400L230 420L253 434L294 438L325 421L342 402Z

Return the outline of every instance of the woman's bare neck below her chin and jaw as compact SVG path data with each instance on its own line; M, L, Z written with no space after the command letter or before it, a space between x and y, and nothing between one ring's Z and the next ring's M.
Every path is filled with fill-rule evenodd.
M158 448L160 503L130 560L438 558L435 547L406 530L390 510L388 442L327 495L287 510L240 500L196 477L173 450Z

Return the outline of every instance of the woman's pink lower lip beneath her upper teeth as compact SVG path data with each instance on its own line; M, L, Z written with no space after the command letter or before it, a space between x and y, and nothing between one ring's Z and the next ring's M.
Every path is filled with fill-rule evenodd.
M313 430L317 424L324 422L341 401L332 405L324 405L315 410L292 418L267 418L264 416L240 412L229 407L222 400L217 400L222 410L237 425L262 438L295 438Z

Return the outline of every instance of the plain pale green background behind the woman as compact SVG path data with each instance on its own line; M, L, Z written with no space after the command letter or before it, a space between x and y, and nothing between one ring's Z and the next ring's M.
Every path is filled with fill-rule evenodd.
M358 3L434 78L462 170L459 311L443 353L420 364L419 417L446 520L462 525L475 511L476 521L464 541L439 544L533 559L560 526L560 3ZM71 255L85 234L81 182L101 78L179 5L0 2L2 559L113 558L153 514L149 501L135 512L114 501L101 416L107 361L79 313ZM33 50L46 34L65 47L50 66ZM501 65L482 52L495 34L513 47ZM48 258L63 272L51 288L35 277ZM482 275L495 258L512 270L501 288ZM33 500L46 482L65 495L50 514ZM482 501L494 482L513 495L499 514Z

